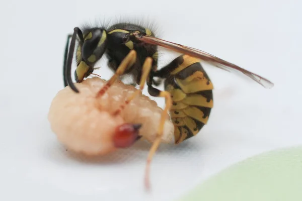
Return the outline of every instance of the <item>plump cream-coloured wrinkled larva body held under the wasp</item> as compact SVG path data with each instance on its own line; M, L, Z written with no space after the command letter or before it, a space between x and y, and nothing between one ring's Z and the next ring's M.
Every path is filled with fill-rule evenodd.
M125 98L139 89L116 81L102 97L96 98L104 84L105 80L99 77L88 78L82 83L75 83L80 93L67 86L56 94L48 120L58 140L75 152L104 155L117 149L113 143L116 128L131 123L141 124L139 135L153 142L163 110L140 92L120 114L113 115ZM173 123L167 118L162 142L174 143L173 133Z

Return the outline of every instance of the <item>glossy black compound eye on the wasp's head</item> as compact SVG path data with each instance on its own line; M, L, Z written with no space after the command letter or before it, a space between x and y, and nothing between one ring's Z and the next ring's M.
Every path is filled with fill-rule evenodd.
M102 30L94 29L87 34L84 38L84 44L82 47L82 58L84 61L89 61L91 55L98 47L98 44L102 38Z

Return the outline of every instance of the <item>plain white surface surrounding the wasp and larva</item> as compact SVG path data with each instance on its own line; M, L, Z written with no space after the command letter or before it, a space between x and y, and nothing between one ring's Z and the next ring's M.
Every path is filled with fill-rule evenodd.
M0 200L173 200L246 157L302 144L301 6L254 0L1 3ZM67 34L83 22L127 14L155 19L164 39L275 83L268 90L206 66L215 86L209 123L195 138L160 148L150 193L143 189L148 145L96 160L71 157L47 121L50 102L63 87ZM108 69L100 72L110 76Z

